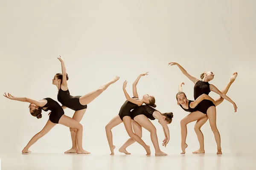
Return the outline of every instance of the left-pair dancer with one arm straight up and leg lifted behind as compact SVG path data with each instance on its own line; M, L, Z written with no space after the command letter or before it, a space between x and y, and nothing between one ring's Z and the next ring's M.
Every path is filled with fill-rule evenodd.
M74 110L75 113L72 118L75 119L77 122L80 122L87 109L87 104L89 104L94 99L96 99L96 97L102 94L102 92L105 91L109 85L119 80L119 77L116 76L110 82L105 83L104 85L100 86L97 90L91 91L90 93L87 93L84 96L71 96L70 91L67 88L68 75L66 72L64 60L61 56L58 57L58 60L61 62L62 74L58 73L52 79L52 84L56 85L58 88L58 101L61 102L61 107L63 109L70 108ZM72 148L64 153L76 153L77 150L76 129L70 127L70 133L72 139Z

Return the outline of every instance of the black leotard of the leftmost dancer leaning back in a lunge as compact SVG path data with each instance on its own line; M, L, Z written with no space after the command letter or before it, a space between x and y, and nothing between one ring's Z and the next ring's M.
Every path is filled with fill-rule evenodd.
M42 107L43 111L51 111L49 119L52 123L58 124L58 121L61 119L61 116L64 115L64 111L61 108L61 105L58 104L55 100L51 98L45 98L47 104Z

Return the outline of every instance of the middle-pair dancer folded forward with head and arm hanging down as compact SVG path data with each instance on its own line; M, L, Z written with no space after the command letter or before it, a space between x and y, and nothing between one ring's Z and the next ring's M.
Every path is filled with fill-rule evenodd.
M138 97L137 91L135 91L134 96ZM157 111L157 109L152 108L148 105L142 105L138 108L135 108L133 111L131 111L131 119L132 119L132 127L134 130L134 133L142 137L142 127L144 127L146 130L150 132L151 141L155 148L155 155L156 156L166 156L167 154L162 152L160 150L158 139L157 139L157 130L156 127L151 123L150 120L157 119L160 125L163 127L163 132L165 135L165 139L163 140L163 146L166 147L170 140L170 134L169 134L169 128L168 124L172 122L173 113L160 113L160 111ZM148 120L150 119L150 120ZM125 153L125 154L131 154L128 153L126 148L133 144L135 142L134 139L130 138L128 139L122 147L120 147L119 152Z

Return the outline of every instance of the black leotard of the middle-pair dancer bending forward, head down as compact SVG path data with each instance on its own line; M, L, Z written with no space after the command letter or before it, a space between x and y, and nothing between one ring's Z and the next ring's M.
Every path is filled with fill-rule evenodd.
M135 108L134 110L131 111L131 119L134 119L134 117L143 114L148 119L154 120L155 119L153 116L154 111L156 111L156 110L151 108L150 106L142 105L142 106Z

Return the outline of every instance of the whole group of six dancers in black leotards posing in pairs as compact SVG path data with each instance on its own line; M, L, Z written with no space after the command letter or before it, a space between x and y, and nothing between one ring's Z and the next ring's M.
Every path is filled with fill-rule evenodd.
M9 93L8 94L5 93L3 95L8 99L17 100L21 102L29 102L30 103L29 112L31 113L32 116L35 116L38 119L42 117L42 114L41 114L42 110L50 111L48 114L49 120L47 121L44 128L39 133L37 133L35 136L32 137L32 139L29 141L26 147L24 147L24 149L22 150L22 153L30 153L31 151L29 150L29 147L31 147L32 144L34 144L38 139L40 139L42 136L47 134L52 129L52 127L54 127L56 124L61 124L61 125L70 127L70 133L71 133L71 139L72 139L72 148L70 150L67 150L65 153L89 154L90 152L87 152L82 147L83 126L79 122L84 116L84 113L87 109L87 104L89 104L94 99L96 99L96 97L102 94L102 92L105 91L111 84L119 80L119 77L116 76L110 82L107 82L104 85L101 85L95 91L91 91L90 93L85 94L84 96L71 96L70 91L67 88L68 75L66 72L64 60L61 56L58 57L58 60L61 62L62 73L55 74L54 78L52 79L52 84L56 85L58 88L57 98L58 98L58 101L62 104L62 106L59 105L58 102L56 102L51 98L34 100L34 99L29 99L27 97L15 97ZM185 118L183 118L180 121L182 154L185 153L185 149L188 146L186 144L186 135L187 135L186 125L194 121L197 121L195 124L195 132L198 137L200 148L199 150L196 150L193 153L205 153L204 136L200 129L204 125L204 123L207 122L208 119L209 119L209 124L211 126L212 132L215 137L215 141L217 143L217 154L222 154L221 138L216 126L215 107L219 105L221 102L223 102L224 99L226 99L227 101L233 104L234 110L236 112L237 106L235 102L233 102L228 96L226 96L226 94L230 88L230 85L235 81L237 72L231 76L230 81L228 82L224 90L219 91L218 88L216 88L214 85L209 84L209 81L211 81L214 78L214 74L211 71L204 72L203 74L201 74L201 80L199 80L191 76L190 74L188 74L187 71L176 62L170 62L168 65L177 65L178 68L180 68L180 71L182 71L182 73L195 84L194 86L195 101L188 100L186 97L186 94L182 91L182 85L184 85L184 83L180 83L178 88L179 91L176 95L177 105L179 105L184 111L190 112ZM146 155L147 156L151 155L149 146L146 145L145 142L141 139L142 127L144 127L146 130L150 132L151 141L155 149L155 155L156 156L167 155L166 153L160 150L158 139L157 139L156 128L154 127L154 125L151 123L149 119L151 120L157 119L160 125L162 125L163 132L165 135L165 139L163 140L162 145L166 147L170 139L169 128L167 125L172 122L173 113L172 112L161 113L160 111L158 111L156 109L154 96L150 96L146 94L139 99L136 86L140 78L146 75L148 75L148 72L144 74L140 74L137 77L137 79L134 81L133 97L129 96L129 94L125 90L127 85L126 80L123 83L122 88L127 100L122 105L119 111L119 114L113 117L113 119L111 119L111 121L105 127L108 144L111 150L111 155L114 155L114 149L115 149L115 146L113 145L113 137L112 137L111 129L122 122L125 125L125 130L130 136L130 139L128 139L122 145L122 147L119 148L119 152L125 153L125 154L131 154L131 153L128 153L126 148L131 144L133 144L134 142L138 142L144 147L146 151ZM208 96L210 91L214 91L215 93L219 94L220 97L215 100L212 99L210 96ZM75 111L72 118L64 115L64 109L66 108L70 108Z

